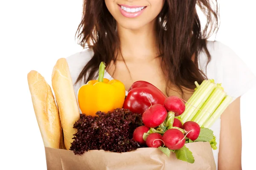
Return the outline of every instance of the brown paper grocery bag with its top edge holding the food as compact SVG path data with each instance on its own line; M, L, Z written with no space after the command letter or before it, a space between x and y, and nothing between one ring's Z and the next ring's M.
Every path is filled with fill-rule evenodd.
M89 150L83 155L45 147L48 170L216 170L209 142L186 144L195 162L180 161L175 153L168 158L158 148L139 148L126 153Z

